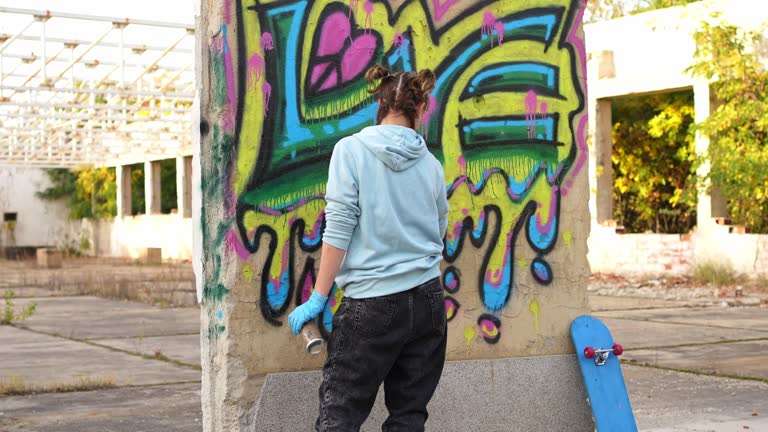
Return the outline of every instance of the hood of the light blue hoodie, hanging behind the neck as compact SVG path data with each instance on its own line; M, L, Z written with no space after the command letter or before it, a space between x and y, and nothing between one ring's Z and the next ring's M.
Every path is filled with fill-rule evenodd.
M355 136L392 171L404 171L427 154L424 138L404 126L369 126Z

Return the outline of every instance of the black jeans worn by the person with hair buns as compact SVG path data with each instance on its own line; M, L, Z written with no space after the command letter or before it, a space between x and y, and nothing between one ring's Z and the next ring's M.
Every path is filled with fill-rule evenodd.
M383 382L389 418L382 430L423 431L446 330L439 279L389 296L344 298L333 316L316 430L359 431Z

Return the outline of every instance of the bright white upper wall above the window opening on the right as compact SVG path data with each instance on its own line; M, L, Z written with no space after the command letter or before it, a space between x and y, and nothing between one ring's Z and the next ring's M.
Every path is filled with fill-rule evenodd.
M765 24L762 0L708 0L584 26L595 99L693 87L693 33L719 20L751 30ZM719 18L711 17L720 12Z

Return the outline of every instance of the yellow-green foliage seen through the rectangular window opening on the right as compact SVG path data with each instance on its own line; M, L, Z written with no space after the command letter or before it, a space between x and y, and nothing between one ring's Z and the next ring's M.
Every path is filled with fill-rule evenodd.
M693 94L613 101L614 217L627 232L688 232L696 221Z

